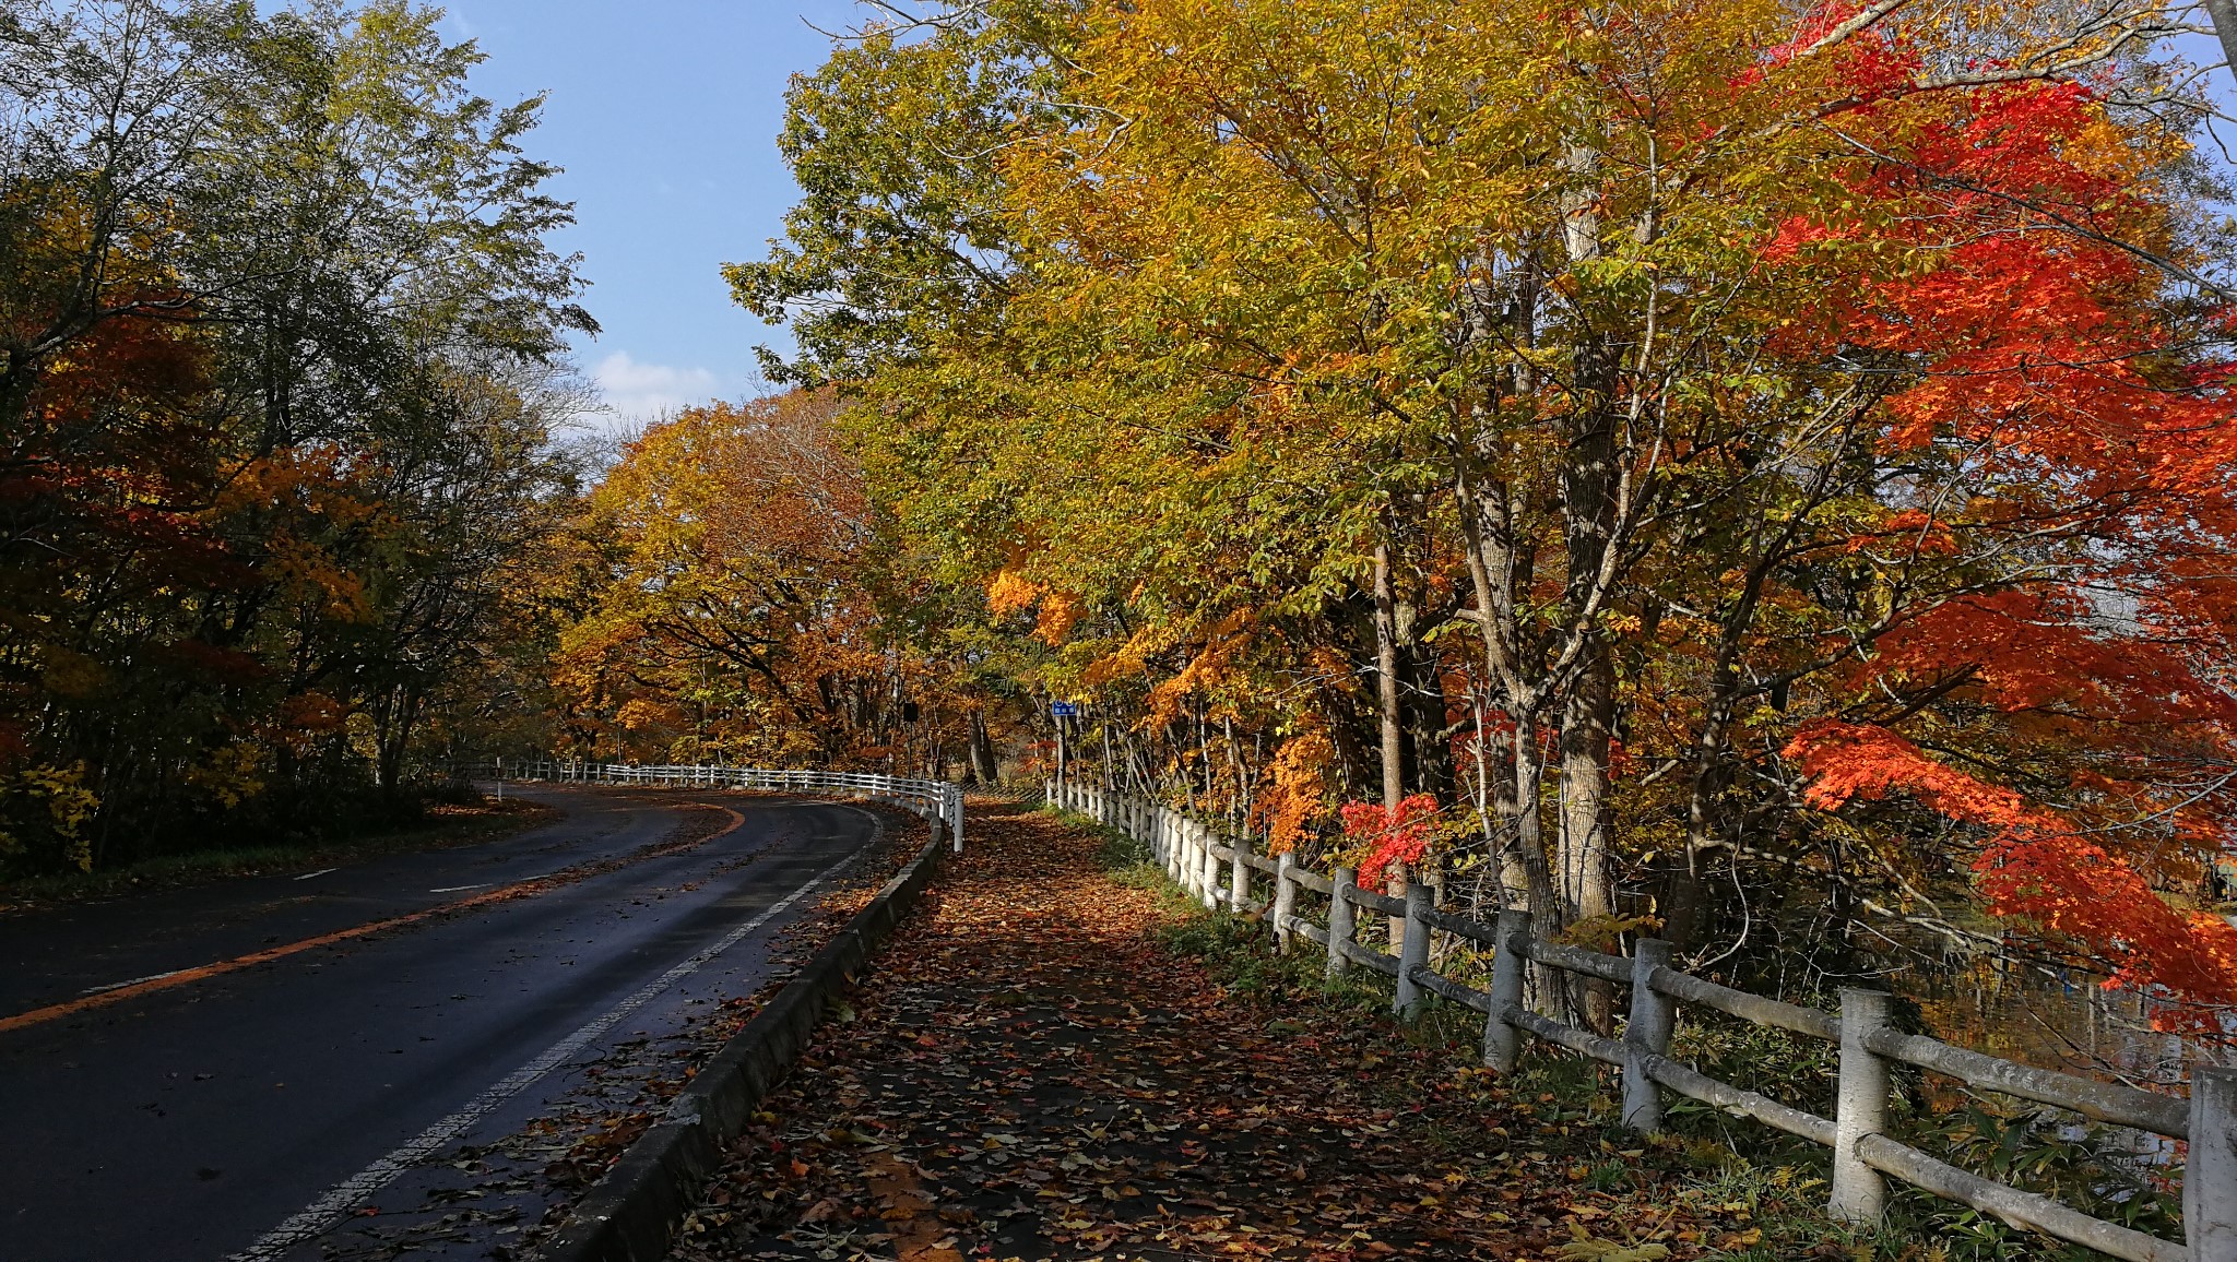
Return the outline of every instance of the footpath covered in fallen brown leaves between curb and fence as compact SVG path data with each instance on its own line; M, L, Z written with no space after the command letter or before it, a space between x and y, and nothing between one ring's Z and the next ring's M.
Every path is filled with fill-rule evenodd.
M1224 993L1163 915L1054 819L973 823L673 1258L1676 1258L1624 1251L1655 1215L1570 1186L1537 1126Z

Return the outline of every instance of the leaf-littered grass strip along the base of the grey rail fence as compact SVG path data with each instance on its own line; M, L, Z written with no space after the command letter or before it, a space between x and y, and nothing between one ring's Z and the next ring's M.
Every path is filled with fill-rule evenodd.
M1825 1217L1832 1155L1756 1121L1669 1096L1667 1132L1640 1137L1620 1121L1622 1083L1597 1061L1532 1045L1508 1076L1479 1067L1483 1018L1432 1000L1418 1023L1389 1016L1389 982L1367 969L1324 978L1324 955L1311 942L1277 955L1257 917L1206 911L1165 879L1143 844L1092 819L1067 821L1103 837L1103 861L1127 886L1165 893L1165 947L1204 960L1242 998L1284 1011L1335 1011L1353 1023L1362 1056L1374 1047L1427 1049L1450 1081L1485 1101L1530 1119L1532 1139L1586 1190L1629 1190L1642 1179L1676 1188L1678 1202L1716 1219L1700 1244L1718 1262L1787 1262L1846 1258L1852 1262L2087 1262L2092 1249L2058 1244L1966 1206L1890 1181L1884 1224L1854 1228ZM1913 1014L1915 1018L1915 1014ZM1832 1117L1837 1049L1740 1020L1682 1020L1671 1054L1700 1072L1763 1092L1781 1103ZM1389 1083L1391 1108L1405 1108L1420 1083ZM2170 1170L2136 1172L2109 1157L2105 1134L2078 1119L2013 1101L1964 1096L1955 1110L1933 1108L1917 1072L1897 1076L1897 1128L1915 1148L1980 1175L2054 1195L2096 1217L2136 1231L2179 1237L2179 1193ZM1454 1137L1472 1146L1476 1137ZM1727 1231L1729 1228L1729 1231Z

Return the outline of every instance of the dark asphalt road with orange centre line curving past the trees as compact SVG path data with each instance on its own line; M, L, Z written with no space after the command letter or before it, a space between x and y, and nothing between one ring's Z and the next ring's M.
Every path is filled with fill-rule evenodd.
M0 917L0 1260L380 1253L374 1206L434 1195L472 1166L461 1152L570 1092L658 1072L629 1052L761 989L808 886L879 828L837 803L532 797L568 814L483 846ZM723 810L738 823L693 844L729 826ZM427 1226L423 1249L454 1258L519 1231L497 1213Z

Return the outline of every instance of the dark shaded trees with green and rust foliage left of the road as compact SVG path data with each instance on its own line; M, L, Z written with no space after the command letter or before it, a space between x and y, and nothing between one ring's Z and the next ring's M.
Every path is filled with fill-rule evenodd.
M468 92L436 18L0 38L0 870L403 817L414 759L532 700L595 324L537 101Z

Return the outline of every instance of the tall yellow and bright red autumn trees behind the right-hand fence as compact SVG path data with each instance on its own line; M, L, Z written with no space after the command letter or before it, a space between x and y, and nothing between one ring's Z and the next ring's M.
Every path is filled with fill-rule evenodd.
M1586 940L1763 897L1837 951L1975 933L1957 891L2233 1002L2233 291L2179 25L926 9L794 85L805 197L729 277L875 418L924 573L1092 705L1094 774Z

